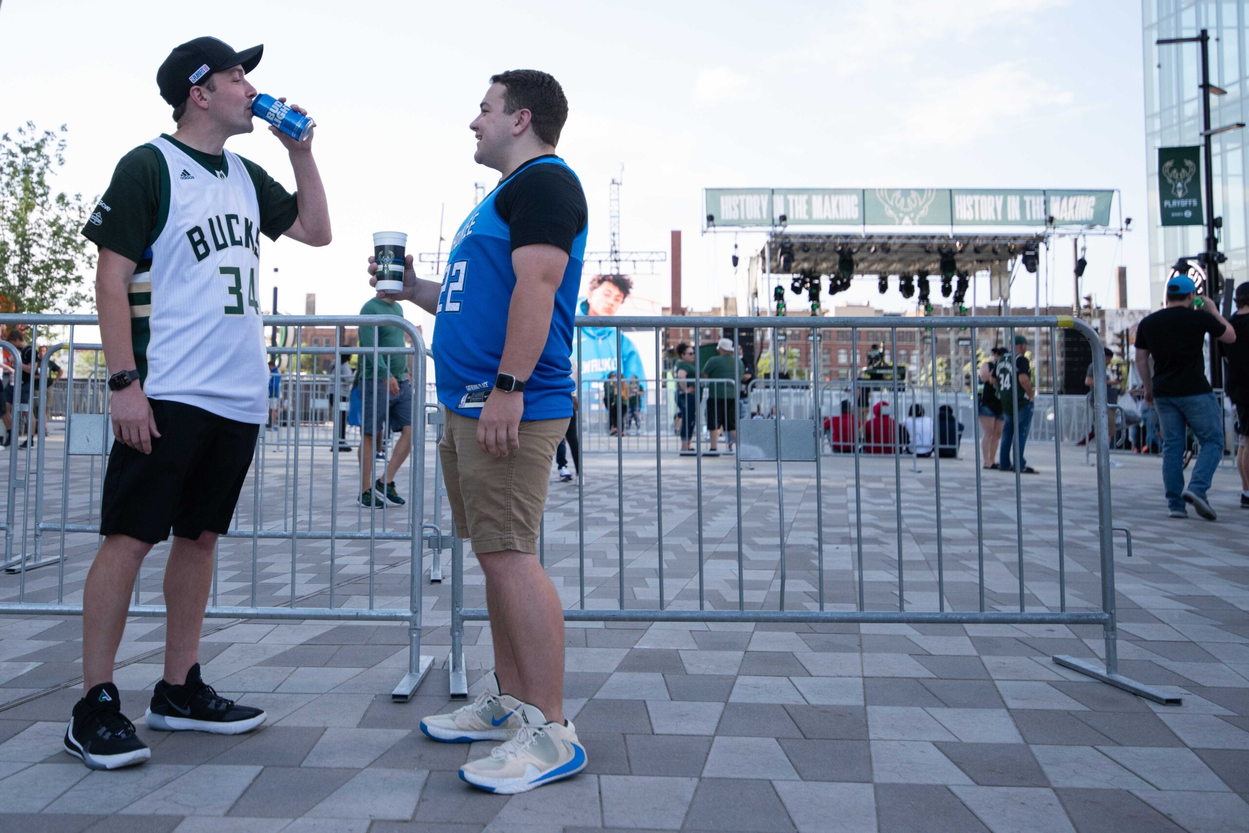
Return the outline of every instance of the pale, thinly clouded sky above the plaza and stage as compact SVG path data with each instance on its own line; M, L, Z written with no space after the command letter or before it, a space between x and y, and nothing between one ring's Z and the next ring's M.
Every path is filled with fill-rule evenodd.
M490 75L516 67L552 72L568 96L558 150L586 189L590 247L608 246L623 164L622 245L667 250L683 230L687 306L732 285L733 236L699 236L702 189L716 186L1119 189L1138 231L1090 241L1085 291L1113 303L1124 264L1133 306L1148 303L1134 0L5 0L0 131L67 124L56 186L100 194L126 151L172 132L156 67L199 35L264 42L251 81L320 125L333 244L262 249L284 312L302 312L305 292L317 312L356 312L372 231L407 231L410 251L432 252L445 205L452 236L473 184L497 181L473 164L467 125ZM294 187L267 132L227 147ZM738 242L744 255L761 239ZM1057 260L1049 300L1070 303L1069 244ZM667 269L637 295L667 303ZM877 301L876 282L852 297ZM1017 288L1032 298L1030 281ZM901 310L901 296L884 306Z

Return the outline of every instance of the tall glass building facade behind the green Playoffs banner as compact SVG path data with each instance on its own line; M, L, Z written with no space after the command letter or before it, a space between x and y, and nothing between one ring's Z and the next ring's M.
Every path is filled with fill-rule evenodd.
M1145 160L1149 169L1149 302L1163 302L1172 264L1205 250L1204 226L1163 229L1158 204L1158 149L1202 144L1199 44L1158 46L1159 37L1210 34L1210 82L1228 91L1210 99L1210 126L1249 122L1249 0L1142 0L1145 61ZM1223 275L1249 280L1249 129L1214 136L1214 216L1223 217ZM1203 162L1204 164L1204 162ZM1203 189L1202 182L1194 182Z

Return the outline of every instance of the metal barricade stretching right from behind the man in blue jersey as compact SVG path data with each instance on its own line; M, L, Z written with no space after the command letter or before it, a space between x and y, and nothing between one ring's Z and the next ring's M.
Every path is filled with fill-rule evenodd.
M849 341L854 353L853 366L858 366L858 333L861 328L888 331L892 353L897 355L899 330L969 330L967 343L975 345L977 330L995 330L1002 335L1002 342L1014 343L1014 335L1023 328L1049 330L1049 371L1050 390L1057 382L1055 328L1068 328L1080 332L1092 345L1095 377L1095 408L1104 421L1105 401L1105 362L1097 332L1087 323L1072 317L1060 316L969 316L969 317L871 317L871 318L734 318L734 317L618 317L583 318L576 321L578 327L615 327L617 355L620 355L621 328L652 328L679 325L693 330L694 343L702 343L702 336L711 333L712 338L721 336L742 343L744 330L771 331L771 390L777 395L779 406L779 386L777 385L777 330L844 328L851 333ZM656 366L661 367L658 356L659 338L656 338ZM811 340L818 343L819 340ZM922 340L918 340L922 341ZM953 340L952 340L953 341ZM963 338L959 338L960 346ZM580 338L577 340L580 343ZM756 345L764 343L759 337ZM974 347L968 348L974 368ZM953 352L953 347L952 347ZM573 372L580 373L580 356L573 348ZM1115 582L1113 523L1109 477L1109 450L1105 437L1097 438L1097 548L1082 550L1092 559L1095 557L1100 567L1099 584L1083 583L1083 569L1077 571L1082 578L1073 597L1068 594L1068 548L1083 547L1077 541L1067 541L1063 521L1063 473L1062 437L1063 408L1050 408L1053 430L1049 438L1054 450L1053 478L1033 477L1030 487L1038 493L1054 495L1053 512L1047 508L1045 537L1039 542L1029 538L1024 543L1023 486L1020 472L1020 438L1028 427L1022 425L1024 415L1030 410L1022 398L1020 380L1017 365L1012 362L1009 395L1015 397L1018 407L1012 413L1009 441L1013 443L1013 476L993 483L993 491L1003 500L987 508L985 486L982 481L980 430L974 417L975 387L969 386L962 393L965 400L963 413L969 433L972 452L964 452L974 463L974 492L968 488L970 478L963 473L964 486L953 491L943 491L942 470L957 467L962 461L934 453L932 480L921 483L918 478L902 476L902 460L906 455L897 418L902 413L899 405L908 401L923 403L936 417L940 413L938 392L938 366L936 350L926 360L929 378L928 386L916 388L913 378L884 382L879 402L886 402L892 410L893 420L882 420L873 427L871 423L854 422L854 442L849 453L836 457L821 453L819 436L823 420L823 393L828 387L847 387L851 402L859 402L859 383L856 378L826 381L821 370L821 350L814 350L809 370L811 408L807 418L788 420L747 420L737 425L738 452L732 462L723 458L704 461L702 425L703 413L698 408L693 418L697 423L694 441L697 452L693 460L664 460L661 443L654 445L653 478L649 461L638 455L628 460L626 467L624 443L617 442L615 466L600 465L596 472L593 491L587 488L585 472L580 472L576 488L576 513L566 501L558 512L552 515L552 501L548 498L547 515L543 520L543 538L551 538L552 530L558 528L562 551L567 559L560 566L560 573L571 583L576 576L576 594L571 586L565 587L565 618L575 622L768 622L768 623L906 623L906 624L1018 624L1018 626L1082 626L1099 624L1103 629L1104 664L1077 657L1055 656L1054 662L1072 671L1088 674L1095 679L1110 683L1132 693L1147 697L1159 703L1178 703L1179 699L1155 688L1144 686L1119 673L1115 628ZM1035 363L1034 363L1035 367ZM914 370L914 367L913 367ZM739 370L738 370L739 372ZM1032 373L1037 371L1033 370ZM694 383L703 381L696 373ZM1033 385L1042 380L1033 380ZM658 385L667 386L676 380L661 380ZM739 376L734 380L741 390ZM881 386L873 382L873 386ZM1032 391L1035 395L1035 391ZM662 396L659 396L662 398ZM657 433L661 430L658 420L661 408L656 408L652 421ZM764 407L764 412L767 408ZM781 407L778 407L778 413ZM954 410L957 415L958 408ZM583 410L577 418L583 420ZM943 417L947 418L948 417ZM1034 418L1034 417L1033 417ZM945 431L948 433L947 422ZM934 445L938 442L934 433ZM1003 438L1003 442L1007 437ZM1035 447L1034 447L1035 448ZM756 463L754 471L747 468L747 461ZM602 463L600 456L600 463ZM759 467L757 463L767 462ZM731 470L728 467L732 467ZM774 466L774 468L773 468ZM965 472L965 463L962 463ZM600 475L605 468L615 468L616 493L602 486ZM626 468L628 477L626 477ZM671 472L671 473L669 473ZM1029 472L1029 476L1032 473ZM831 481L833 478L836 483ZM826 482L829 481L829 482ZM1007 483L1013 483L1009 495ZM558 488L552 486L552 490ZM694 492L694 506L678 506L671 511L671 501L666 506L666 492L672 490ZM1094 497L1088 495L1087 486L1079 501L1092 505ZM743 500L743 492L749 492L749 502ZM626 492L629 507L629 533L626 536ZM909 495L904 500L904 493ZM914 498L923 493L921 503ZM708 495L713 496L708 498ZM734 497L736 496L736 497ZM612 500L615 498L615 500ZM958 498L964 502L950 508ZM968 500L970 498L970 500ZM970 505L974 500L974 506ZM943 503L944 501L944 503ZM1008 503L1009 501L1009 503ZM992 517L987 521L987 511ZM600 523L593 530L592 540L587 536L587 516L597 520L616 515L615 530ZM960 528L958 537L947 536L943 531L943 518L958 513ZM918 518L926 530L934 536L934 547L926 551L906 533L904 513ZM743 517L743 516L749 516ZM814 531L798 528L799 516L814 521ZM829 528L826 517L844 523L839 531ZM931 525L929 525L931 517ZM974 518L974 526L973 526ZM1013 521L1010 527L1003 521ZM749 542L744 521L749 521ZM771 527L771 530L768 528ZM889 527L893 527L892 530ZM1009 532L1008 532L1009 530ZM1053 530L1052 536L1049 530ZM736 536L734 536L736 533ZM904 541L904 535L908 541ZM736 540L734 540L736 537ZM567 543L570 540L575 545ZM545 541L543 562L556 566L552 558L560 552L557 545ZM575 547L575 548L573 548ZM774 547L774 550L773 550ZM467 672L463 657L463 623L488 619L483 606L465 604L465 553L463 542L452 541L451 561L451 656L450 682L451 694L467 694ZM587 555L588 553L588 555ZM987 558L989 556L989 558ZM576 557L576 569L568 559ZM833 558L834 561L829 561ZM587 561L591 563L587 566ZM912 564L908 566L908 561ZM918 562L918 568L916 566ZM988 563L987 563L988 562ZM954 579L947 583L947 573L953 571ZM918 579L907 583L908 573ZM1093 572L1093 571L1089 571ZM587 583L602 581L593 586ZM832 576L836 581L826 581ZM871 576L869 579L867 577ZM1029 586L1028 578L1033 578ZM1055 577L1053 582L1050 577ZM615 579L615 581L612 581ZM673 592L668 582L677 581L679 586ZM610 583L608 583L610 582ZM615 587L611 587L615 584ZM628 592L626 589L628 588ZM871 589L871 592L869 592ZM1088 592L1089 597L1083 596ZM473 593L483 594L480 584L473 584ZM717 604L718 602L718 604Z

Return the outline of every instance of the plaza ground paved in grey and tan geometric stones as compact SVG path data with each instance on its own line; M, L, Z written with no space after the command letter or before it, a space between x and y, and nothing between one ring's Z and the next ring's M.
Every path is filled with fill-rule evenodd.
M57 442L47 455L59 471ZM294 483L284 473L286 451L266 452L264 488L255 492L266 527L281 528L292 503L297 525L328 527L332 467L317 453ZM901 563L907 609L978 608L983 569L985 609L1017 611L1020 566L1027 609L1098 609L1098 495L1083 448L1063 451L1059 517L1053 445L1029 447L1040 475L1022 478L1022 559L1015 478L983 472L978 486L967 443L963 455L939 461L939 513L933 460L921 460L918 473L901 462L901 513L892 458L861 461L859 511L853 458L823 458L818 512L814 467L786 463L782 513L774 463L742 472L738 506L731 458L708 458L701 527L694 460L666 453L657 477L653 453L593 455L583 513L576 483L551 485L543 557L568 607L582 597L587 608L616 608L621 597L624 607L658 607L662 496L664 606L697 608L702 597L708 608L736 608L741 598L747 608L783 601L812 609L822 587L828 609L854 609L862 578L867 609L897 609ZM1180 707L1050 661L1099 656L1100 627L570 623L565 708L588 769L527 794L491 796L456 776L491 744L441 744L416 729L422 716L455 707L443 552L447 581L421 582L423 653L435 663L407 703L390 696L407 666L402 624L209 619L205 679L265 708L267 723L240 737L151 732L140 721L161 674L164 626L132 619L115 679L152 757L120 772L90 772L60 751L80 696L81 619L0 617L0 829L1249 831L1249 511L1237 507L1235 472L1215 476L1218 523L1175 521L1165 513L1159 460L1117 458L1114 522L1134 543L1128 558L1117 536L1120 672L1183 696ZM350 502L358 493L355 462L340 462L338 528L367 531L368 516ZM84 460L75 463L67 520L89 522L90 475ZM55 517L61 481L50 477ZM252 507L249 485L244 526ZM406 528L395 510L375 523ZM55 555L59 537L49 533L44 547ZM94 548L94 536L69 536L62 566L26 574L26 598L55 601L64 569L64 599L77 602ZM328 542L262 540L254 562L251 540L227 541L214 598L327 604L333 587L336 607L367 607L372 598L375 607L402 608L407 552L400 541L378 541L371 555L367 541L340 541L331 563ZM164 559L159 550L145 566L142 603L161 599ZM466 606L481 606L471 556L465 584ZM0 602L17 592L17 576L0 576ZM491 666L490 639L488 627L466 624L471 694Z

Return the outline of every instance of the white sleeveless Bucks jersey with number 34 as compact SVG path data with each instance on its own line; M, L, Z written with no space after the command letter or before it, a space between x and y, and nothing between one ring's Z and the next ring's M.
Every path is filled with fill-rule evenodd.
M167 180L164 222L127 288L144 392L261 423L269 368L256 286L256 186L229 151L214 172L165 137L149 146L162 157Z

